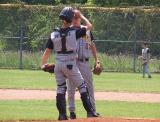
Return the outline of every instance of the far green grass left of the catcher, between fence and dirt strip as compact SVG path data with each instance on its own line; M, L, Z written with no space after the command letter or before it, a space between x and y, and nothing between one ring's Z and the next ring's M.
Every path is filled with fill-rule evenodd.
M0 88L55 89L55 87L54 75L43 71L0 69Z

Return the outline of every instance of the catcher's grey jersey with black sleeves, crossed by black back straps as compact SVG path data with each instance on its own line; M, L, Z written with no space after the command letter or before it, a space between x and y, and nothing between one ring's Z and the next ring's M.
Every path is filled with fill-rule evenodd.
M65 35L65 41L62 36ZM73 29L71 27L55 29L47 42L46 48L55 49L56 60L66 61L77 58L77 40L86 35L86 28Z

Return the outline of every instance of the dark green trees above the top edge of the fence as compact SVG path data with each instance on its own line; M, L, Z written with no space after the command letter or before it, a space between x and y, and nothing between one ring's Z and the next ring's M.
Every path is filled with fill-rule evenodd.
M26 4L84 4L92 6L160 6L159 0L1 0L4 3L21 3Z

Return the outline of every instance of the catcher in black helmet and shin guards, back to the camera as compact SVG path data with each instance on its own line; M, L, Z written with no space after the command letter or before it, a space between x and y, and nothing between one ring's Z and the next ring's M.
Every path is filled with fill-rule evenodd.
M87 113L90 113L92 117L98 116L94 112L87 94L86 85L76 65L76 40L85 36L86 31L90 30L92 25L83 15L81 15L81 18L85 21L86 26L76 30L71 28L70 26L74 15L75 13L71 7L65 7L60 12L59 17L62 20L62 27L60 29L55 29L54 32L51 33L41 61L41 68L45 69L45 64L49 54L52 52L53 48L55 49L56 63L54 73L57 82L56 106L59 111L58 120L67 120L65 98L67 88L66 79L74 82L74 85L78 88L83 106Z

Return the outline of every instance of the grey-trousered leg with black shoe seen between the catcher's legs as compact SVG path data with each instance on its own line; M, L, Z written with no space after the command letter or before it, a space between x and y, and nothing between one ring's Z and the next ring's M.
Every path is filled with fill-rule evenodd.
M67 92L68 92L68 109L70 112L70 119L76 119L75 114L75 84L71 81L67 82Z

